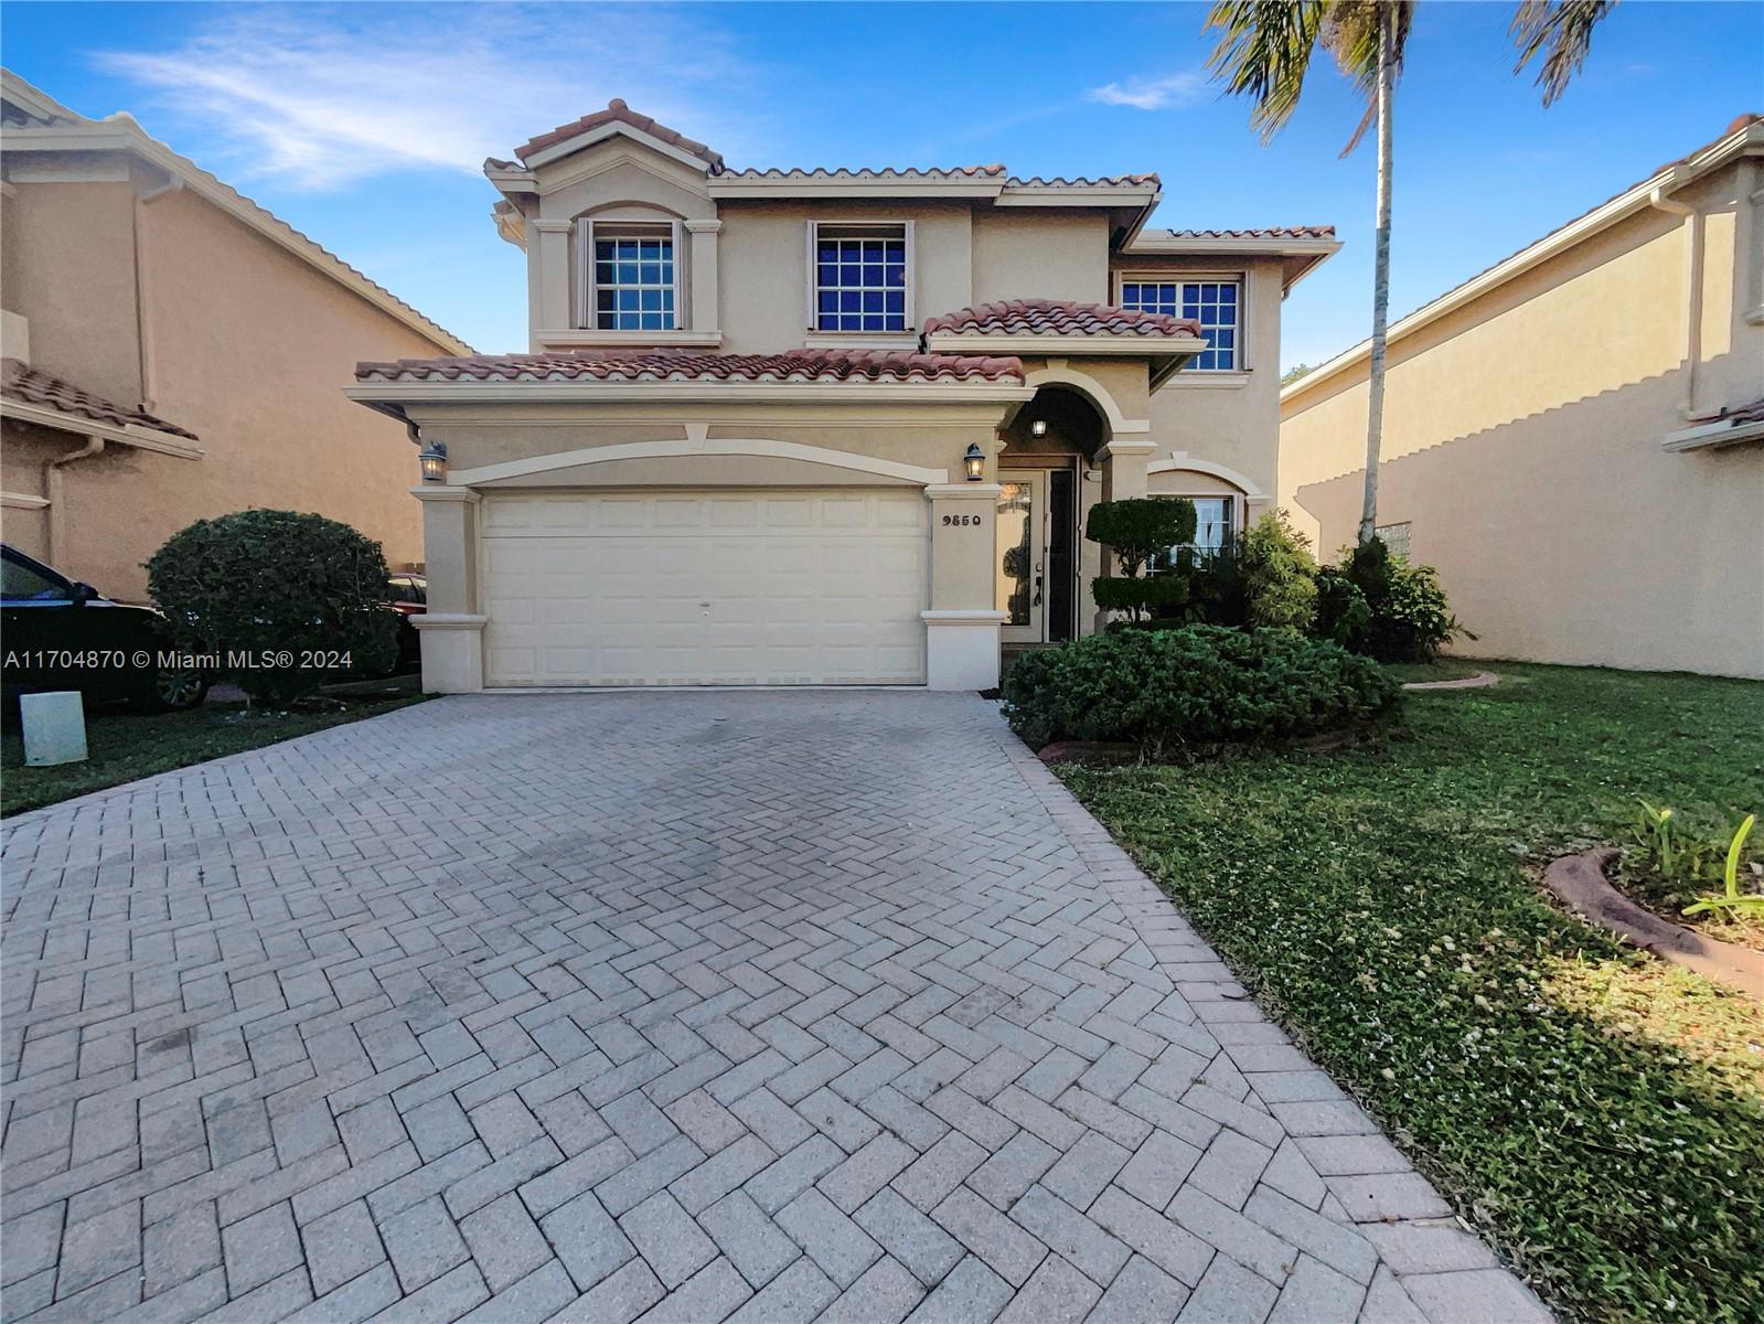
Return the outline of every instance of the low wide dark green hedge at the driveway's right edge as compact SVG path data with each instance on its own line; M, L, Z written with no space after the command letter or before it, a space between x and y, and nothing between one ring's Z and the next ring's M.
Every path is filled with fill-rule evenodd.
M1034 749L1129 741L1152 759L1342 729L1387 715L1399 694L1337 644L1224 625L1090 636L1020 657L1002 687L1011 729Z

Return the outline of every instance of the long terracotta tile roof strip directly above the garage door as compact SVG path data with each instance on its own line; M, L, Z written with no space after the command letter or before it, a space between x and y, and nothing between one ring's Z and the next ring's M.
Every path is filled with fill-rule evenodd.
M907 350L789 350L711 355L658 350L475 355L356 364L358 381L1021 381L1004 355Z

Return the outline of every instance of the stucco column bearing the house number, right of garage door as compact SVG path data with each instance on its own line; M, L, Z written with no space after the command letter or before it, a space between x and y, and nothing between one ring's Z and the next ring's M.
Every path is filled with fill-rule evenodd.
M998 627L993 606L993 542L998 484L938 482L931 503L931 606L924 620L924 683L933 690L998 685Z

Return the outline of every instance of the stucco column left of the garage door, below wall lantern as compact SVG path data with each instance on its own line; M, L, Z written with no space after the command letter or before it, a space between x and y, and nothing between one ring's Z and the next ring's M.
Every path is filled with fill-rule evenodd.
M427 694L483 688L483 623L478 613L478 493L469 487L413 487L423 503L423 572L429 611L413 616L423 650Z

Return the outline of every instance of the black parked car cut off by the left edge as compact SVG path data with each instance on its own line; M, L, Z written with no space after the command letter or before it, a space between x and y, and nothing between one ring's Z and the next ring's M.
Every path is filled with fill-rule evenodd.
M79 690L146 711L196 708L208 678L166 657L173 644L152 607L111 602L92 584L0 545L0 653L5 711L32 690ZM162 666L166 664L166 666Z

